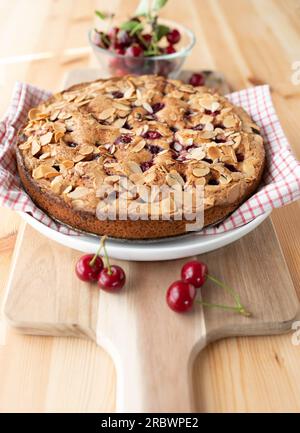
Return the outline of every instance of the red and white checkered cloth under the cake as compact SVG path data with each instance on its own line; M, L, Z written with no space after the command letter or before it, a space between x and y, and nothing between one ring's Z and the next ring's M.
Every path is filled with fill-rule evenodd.
M67 235L80 234L53 221L32 202L22 189L15 162L16 135L31 107L50 96L49 92L17 83L10 108L0 123L0 205L30 213L38 221ZM218 227L201 234L219 234L247 224L273 208L300 198L300 164L290 149L280 126L268 86L231 93L228 99L242 106L262 128L267 153L267 167L259 190Z

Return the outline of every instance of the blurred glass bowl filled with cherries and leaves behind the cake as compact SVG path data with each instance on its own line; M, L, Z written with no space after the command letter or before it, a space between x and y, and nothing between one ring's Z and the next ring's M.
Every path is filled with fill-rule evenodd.
M90 30L89 42L103 72L113 76L178 76L195 36L181 24L159 19L157 12L137 11L132 18L116 24L114 15L96 11L101 21L99 27Z

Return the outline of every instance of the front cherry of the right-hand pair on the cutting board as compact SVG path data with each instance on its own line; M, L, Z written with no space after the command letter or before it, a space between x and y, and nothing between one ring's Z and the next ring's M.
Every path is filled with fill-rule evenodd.
M175 281L167 291L167 304L177 313L188 311L194 303L196 289L192 284Z

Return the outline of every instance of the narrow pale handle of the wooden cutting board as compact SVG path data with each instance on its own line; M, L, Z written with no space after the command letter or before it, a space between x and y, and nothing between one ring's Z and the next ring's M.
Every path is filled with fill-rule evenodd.
M175 347L149 345L145 350L134 342L120 348L108 339L101 339L116 367L117 412L196 410L192 387L194 353L177 350L176 342L173 343Z

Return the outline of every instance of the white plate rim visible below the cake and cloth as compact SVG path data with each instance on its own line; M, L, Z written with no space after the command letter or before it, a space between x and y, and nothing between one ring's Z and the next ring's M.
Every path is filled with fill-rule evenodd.
M271 212L260 215L250 223L219 235L198 236L191 234L172 240L158 242L134 242L108 240L106 243L110 257L120 260L156 261L172 260L216 250L234 242L261 224ZM91 235L68 236L50 229L35 218L20 212L21 217L38 232L66 247L86 253L95 253L99 239Z

